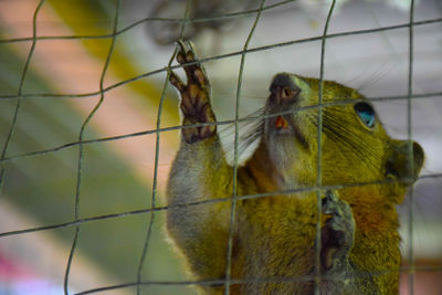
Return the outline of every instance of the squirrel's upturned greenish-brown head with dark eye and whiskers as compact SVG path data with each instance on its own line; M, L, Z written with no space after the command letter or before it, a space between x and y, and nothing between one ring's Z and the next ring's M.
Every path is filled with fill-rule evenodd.
M424 160L414 141L392 139L372 105L356 89L324 81L277 74L265 105L264 137L282 181L313 186L318 171L318 117L322 112L323 185L391 181L393 194L403 194Z

